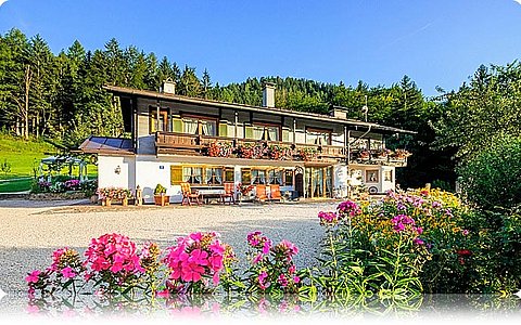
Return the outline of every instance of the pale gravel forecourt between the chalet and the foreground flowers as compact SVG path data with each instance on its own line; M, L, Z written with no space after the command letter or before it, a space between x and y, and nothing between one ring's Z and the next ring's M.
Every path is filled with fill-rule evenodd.
M25 297L26 273L50 265L54 249L68 246L82 252L90 238L113 232L164 248L180 235L216 231L241 258L246 234L259 230L274 242L287 238L296 244L301 252L295 262L305 266L313 263L323 234L317 212L335 206L328 202L102 208L85 202L0 200L0 288L11 297Z

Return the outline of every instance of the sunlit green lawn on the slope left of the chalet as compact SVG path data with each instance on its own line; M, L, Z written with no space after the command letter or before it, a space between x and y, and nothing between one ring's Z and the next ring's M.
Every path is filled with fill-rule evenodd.
M0 164L7 161L11 171L0 171L0 193L30 190L35 171L38 172L40 159L56 155L58 150L43 141L28 140L0 134ZM88 166L89 178L96 178L98 167ZM12 181L5 181L12 180Z

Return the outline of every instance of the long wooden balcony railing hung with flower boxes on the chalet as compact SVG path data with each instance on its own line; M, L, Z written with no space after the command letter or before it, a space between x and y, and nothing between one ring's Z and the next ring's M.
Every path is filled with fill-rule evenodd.
M231 139L174 132L156 132L155 145L160 154L301 161L345 161L346 158L346 152L343 146ZM406 162L407 155L398 156L386 153L383 156L378 151L356 150L352 151L350 155L350 164L405 166Z

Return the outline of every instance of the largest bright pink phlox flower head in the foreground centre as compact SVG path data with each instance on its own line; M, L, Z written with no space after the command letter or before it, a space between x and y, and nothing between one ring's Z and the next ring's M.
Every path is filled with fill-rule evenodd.
M219 283L226 246L218 240L216 233L193 233L178 239L177 246L169 248L165 262L170 270L169 280L196 283L203 277L212 277L214 285Z

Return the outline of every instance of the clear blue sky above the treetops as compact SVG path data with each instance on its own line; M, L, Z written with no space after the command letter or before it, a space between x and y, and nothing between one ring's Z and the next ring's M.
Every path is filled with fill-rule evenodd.
M200 75L207 68L220 84L279 75L391 86L408 75L433 95L480 64L521 57L514 0L9 0L0 32L13 27L40 34L54 53L115 37Z

